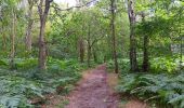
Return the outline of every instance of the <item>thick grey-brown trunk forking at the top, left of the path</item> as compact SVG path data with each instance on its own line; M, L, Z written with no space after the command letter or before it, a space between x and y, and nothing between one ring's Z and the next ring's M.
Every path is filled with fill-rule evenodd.
M44 2L43 2L44 1ZM40 35L39 35L39 69L44 70L47 67L47 44L44 41L44 29L50 4L53 0L40 0L38 5L40 16ZM43 3L45 4L43 6Z

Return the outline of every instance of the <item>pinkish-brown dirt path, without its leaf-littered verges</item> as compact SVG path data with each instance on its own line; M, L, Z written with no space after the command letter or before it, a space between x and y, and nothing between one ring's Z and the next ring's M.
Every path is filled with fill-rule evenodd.
M118 108L118 96L107 84L106 66L101 65L86 73L68 99L69 105L65 108Z

